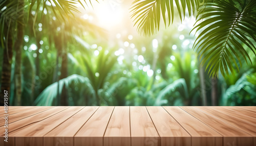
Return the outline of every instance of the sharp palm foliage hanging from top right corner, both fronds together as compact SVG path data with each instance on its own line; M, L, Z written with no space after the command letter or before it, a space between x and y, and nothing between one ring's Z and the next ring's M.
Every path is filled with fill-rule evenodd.
M194 29L200 35L194 49L199 51L202 64L207 62L206 69L211 77L218 77L219 70L223 76L230 72L233 74L235 69L239 70L242 66L242 59L252 63L248 52L250 50L256 55L255 1L136 0L132 7L132 18L138 25L138 32L145 36L155 34L159 30L161 16L165 26L169 26L174 21L174 2L181 21L185 15L196 16Z

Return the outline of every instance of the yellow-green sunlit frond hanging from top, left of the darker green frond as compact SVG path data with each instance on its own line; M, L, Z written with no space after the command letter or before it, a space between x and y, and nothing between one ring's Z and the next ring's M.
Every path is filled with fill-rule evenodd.
M167 23L169 26L170 22L174 21L175 5L182 21L186 10L188 10L188 15L191 16L197 11L199 4L199 0L175 0L175 3L173 0L136 0L131 8L131 12L133 12L131 17L135 17L134 21L135 25L138 24L138 32L145 36L150 36L159 31L161 15L165 27ZM168 20L165 16L166 12Z

